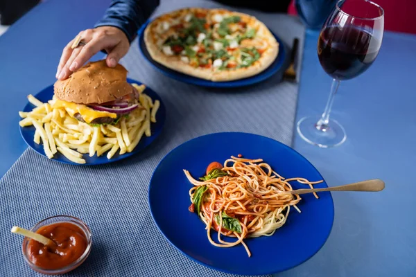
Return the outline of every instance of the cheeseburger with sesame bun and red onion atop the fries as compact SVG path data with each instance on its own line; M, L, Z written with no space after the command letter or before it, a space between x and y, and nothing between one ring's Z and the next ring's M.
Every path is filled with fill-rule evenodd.
M66 80L53 85L53 107L64 108L69 116L82 122L116 124L139 104L139 92L127 82L127 70L121 64L108 67L105 60L89 62Z

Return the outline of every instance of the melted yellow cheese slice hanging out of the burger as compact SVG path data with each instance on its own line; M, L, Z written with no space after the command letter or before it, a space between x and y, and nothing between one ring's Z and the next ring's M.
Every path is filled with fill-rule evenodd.
M64 108L70 116L80 114L86 123L91 123L92 120L101 117L117 118L117 115L108 111L96 111L85 105L80 105L72 102L56 100L52 106L55 109Z

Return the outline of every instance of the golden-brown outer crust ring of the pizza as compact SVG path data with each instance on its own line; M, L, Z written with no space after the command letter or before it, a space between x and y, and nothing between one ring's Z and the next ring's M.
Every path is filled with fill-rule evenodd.
M155 32L155 27L159 26L162 21L166 20L173 20L177 19L177 17L183 16L187 12L206 12L207 13L207 21L214 22L213 16L216 14L232 16L238 15L243 19L243 21L248 22L248 26L255 28L257 30L257 34L261 34L261 37L264 39L264 42L268 44L266 51L261 54L259 60L254 62L251 66L234 69L234 70L213 70L212 68L202 68L202 67L193 67L186 62L182 62L180 57L177 55L168 56L160 51L159 47L157 46L156 36L157 33ZM191 75L197 78L202 78L205 80L211 80L213 82L227 82L232 80L239 80L243 78L248 78L253 75L257 75L261 71L265 70L275 61L278 51L279 51L279 44L277 43L275 37L270 33L270 30L264 25L261 21L257 20L255 17L250 15L246 15L241 12L230 12L225 9L204 9L204 8L185 8L181 10L175 10L173 12L166 13L157 17L155 20L150 22L144 31L144 42L146 44L146 48L150 54L150 57L162 64L169 69L173 69L180 73L184 73L187 75Z

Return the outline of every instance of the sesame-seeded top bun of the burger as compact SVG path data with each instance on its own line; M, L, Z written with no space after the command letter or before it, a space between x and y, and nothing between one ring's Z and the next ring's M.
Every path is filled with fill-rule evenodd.
M55 96L67 102L77 104L101 104L114 101L129 93L127 70L121 64L110 68L105 60L89 62L66 80L54 84Z

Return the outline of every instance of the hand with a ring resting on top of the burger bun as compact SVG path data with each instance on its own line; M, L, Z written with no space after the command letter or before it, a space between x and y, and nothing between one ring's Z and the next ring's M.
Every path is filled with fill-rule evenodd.
M56 71L56 78L64 80L68 78L73 71L77 71L93 55L101 50L107 51L105 59L107 66L114 67L121 57L123 57L130 47L128 38L119 28L112 26L102 26L94 29L83 30L79 33L81 42L76 48L71 48L75 39L72 39L64 51Z

